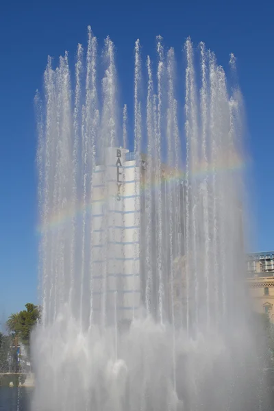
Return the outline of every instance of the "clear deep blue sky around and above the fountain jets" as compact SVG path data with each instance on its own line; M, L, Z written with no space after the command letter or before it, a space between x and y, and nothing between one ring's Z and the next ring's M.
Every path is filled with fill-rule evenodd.
M36 135L33 99L47 55L74 55L86 27L110 34L123 88L132 90L133 47L143 53L161 34L177 55L191 36L216 52L220 64L238 58L245 96L257 236L254 247L274 249L273 116L274 5L271 1L1 1L0 5L0 314L36 301ZM1 318L1 315L0 315Z

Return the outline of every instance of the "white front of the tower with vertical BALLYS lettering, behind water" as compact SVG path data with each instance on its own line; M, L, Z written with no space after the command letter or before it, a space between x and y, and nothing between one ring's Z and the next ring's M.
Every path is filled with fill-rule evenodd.
M131 154L108 149L93 179L93 308L110 321L140 306L140 166Z

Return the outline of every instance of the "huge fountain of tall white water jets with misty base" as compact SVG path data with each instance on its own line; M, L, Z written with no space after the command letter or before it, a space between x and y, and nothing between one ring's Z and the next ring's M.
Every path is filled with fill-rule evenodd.
M203 43L199 64L189 38L185 54L183 72L158 36L142 64L136 41L134 139L110 38L101 55L88 28L75 76L67 53L48 60L36 411L265 409L242 285L240 90Z

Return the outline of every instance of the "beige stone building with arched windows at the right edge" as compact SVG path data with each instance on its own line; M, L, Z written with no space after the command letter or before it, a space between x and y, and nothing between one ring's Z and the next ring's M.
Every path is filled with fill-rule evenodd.
M274 251L249 254L247 275L253 309L268 314L274 323Z

